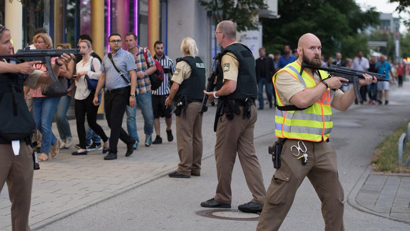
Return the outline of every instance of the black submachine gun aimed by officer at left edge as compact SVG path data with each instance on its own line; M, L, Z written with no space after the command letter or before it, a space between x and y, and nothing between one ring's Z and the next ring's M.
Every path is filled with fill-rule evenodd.
M18 50L13 55L0 55L0 59L14 60L16 63L41 61L41 64L46 64L53 83L56 83L58 79L52 71L51 58L60 57L63 54L84 55L84 53L80 53L80 49L33 49Z

